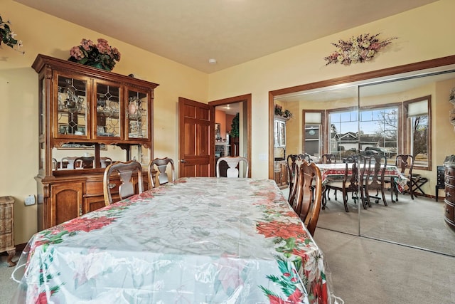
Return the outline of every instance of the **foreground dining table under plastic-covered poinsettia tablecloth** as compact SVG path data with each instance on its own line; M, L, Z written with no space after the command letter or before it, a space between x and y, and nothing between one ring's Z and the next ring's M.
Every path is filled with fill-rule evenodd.
M272 179L183 177L34 234L11 303L332 303Z

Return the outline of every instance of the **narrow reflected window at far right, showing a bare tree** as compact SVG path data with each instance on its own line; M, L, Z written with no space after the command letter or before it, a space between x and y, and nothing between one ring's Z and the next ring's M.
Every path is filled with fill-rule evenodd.
M405 151L414 157L414 168L431 170L431 95L403 103L405 106Z

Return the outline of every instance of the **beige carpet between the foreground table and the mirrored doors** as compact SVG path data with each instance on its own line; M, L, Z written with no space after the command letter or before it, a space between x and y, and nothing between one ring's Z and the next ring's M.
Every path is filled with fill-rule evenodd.
M316 229L333 293L346 304L455 303L455 258Z

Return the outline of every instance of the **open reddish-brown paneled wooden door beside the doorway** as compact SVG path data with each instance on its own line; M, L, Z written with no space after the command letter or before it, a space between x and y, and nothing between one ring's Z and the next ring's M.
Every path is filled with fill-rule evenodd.
M178 176L213 177L215 107L178 98Z

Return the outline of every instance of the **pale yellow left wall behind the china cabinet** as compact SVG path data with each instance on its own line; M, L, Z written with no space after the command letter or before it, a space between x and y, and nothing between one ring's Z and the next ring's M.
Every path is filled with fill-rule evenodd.
M0 47L0 196L15 204L15 243L26 243L36 232L36 204L24 206L36 195L38 173L38 75L31 68L38 53L66 59L82 38L106 38L122 53L113 72L134 73L159 83L154 101L154 156L178 159L178 97L208 101L208 75L169 61L109 36L43 14L10 0L1 1L1 17L11 20L25 55Z

